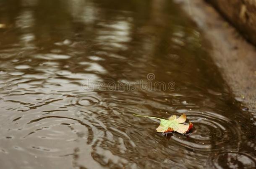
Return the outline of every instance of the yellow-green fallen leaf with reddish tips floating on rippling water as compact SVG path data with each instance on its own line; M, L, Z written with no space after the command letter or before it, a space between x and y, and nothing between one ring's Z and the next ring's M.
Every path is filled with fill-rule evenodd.
M152 116L142 116L137 114L133 114L133 115L140 116L140 117L149 117L149 118L160 120L160 125L156 129L158 133L167 133L167 132L177 131L180 134L184 134L189 130L191 130L193 127L192 123L189 123L189 125L184 124L184 122L187 119L185 114L182 114L178 119L176 115L172 115L167 120L157 118L157 117L152 117Z

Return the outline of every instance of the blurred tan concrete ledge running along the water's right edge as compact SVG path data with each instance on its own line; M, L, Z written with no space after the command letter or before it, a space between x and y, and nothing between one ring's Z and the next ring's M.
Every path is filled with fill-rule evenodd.
M235 99L256 121L256 48L204 0L174 0L211 43L211 56Z

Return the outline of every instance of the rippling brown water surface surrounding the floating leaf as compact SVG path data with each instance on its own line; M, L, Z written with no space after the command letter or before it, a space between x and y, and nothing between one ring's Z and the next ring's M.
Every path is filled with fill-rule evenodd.
M0 65L1 169L256 167L255 122L170 0L0 0Z

